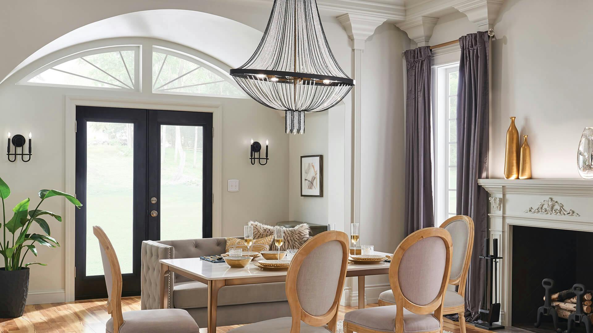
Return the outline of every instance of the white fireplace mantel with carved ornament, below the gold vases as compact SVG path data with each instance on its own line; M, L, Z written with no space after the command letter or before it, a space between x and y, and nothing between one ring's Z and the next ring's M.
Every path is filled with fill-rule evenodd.
M480 179L478 184L490 193L489 236L498 239L503 257L497 277L500 322L511 326L512 226L593 232L593 180Z

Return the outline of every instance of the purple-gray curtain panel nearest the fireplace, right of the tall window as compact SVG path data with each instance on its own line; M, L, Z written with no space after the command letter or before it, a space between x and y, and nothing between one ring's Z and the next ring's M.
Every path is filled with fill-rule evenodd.
M474 220L474 249L466 289L466 319L479 318L486 265L479 255L487 237L487 198L479 178L488 174L490 39L486 31L459 39L461 60L457 87L457 214Z

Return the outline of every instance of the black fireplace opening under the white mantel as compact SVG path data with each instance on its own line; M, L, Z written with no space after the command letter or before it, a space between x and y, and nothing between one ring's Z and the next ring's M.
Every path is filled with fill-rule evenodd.
M592 236L584 231L512 226L512 326L555 333L550 316L544 316L539 328L534 327L537 309L544 305L541 280L554 280L551 293L572 289L575 283L593 290ZM559 321L566 330L566 319ZM584 332L584 325L577 331Z

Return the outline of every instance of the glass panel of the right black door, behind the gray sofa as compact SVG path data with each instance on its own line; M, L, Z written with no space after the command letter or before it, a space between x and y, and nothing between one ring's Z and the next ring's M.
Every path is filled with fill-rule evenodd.
M161 125L161 239L202 238L203 127Z

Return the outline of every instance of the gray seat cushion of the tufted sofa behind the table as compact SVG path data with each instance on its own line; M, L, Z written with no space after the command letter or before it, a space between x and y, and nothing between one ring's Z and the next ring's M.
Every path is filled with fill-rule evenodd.
M285 301L285 289L284 282L222 287L218 292L218 306ZM206 308L208 286L198 281L176 283L173 304L177 309Z

